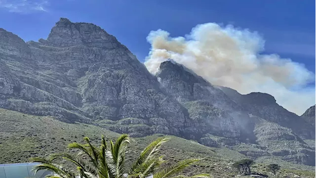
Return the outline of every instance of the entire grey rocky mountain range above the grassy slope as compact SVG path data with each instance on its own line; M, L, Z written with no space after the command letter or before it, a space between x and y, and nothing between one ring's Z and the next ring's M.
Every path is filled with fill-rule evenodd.
M172 60L153 76L114 36L66 18L38 42L0 29L0 107L316 166L315 106L300 117L270 94L213 86Z

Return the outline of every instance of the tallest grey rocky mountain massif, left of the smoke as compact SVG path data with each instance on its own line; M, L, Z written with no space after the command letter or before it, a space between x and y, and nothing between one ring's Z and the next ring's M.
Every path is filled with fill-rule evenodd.
M6 68L1 84L7 86L2 92L10 95L1 107L68 122L137 118L134 135L182 132L187 119L182 106L164 95L144 65L100 27L61 18L47 40L24 43L4 30L0 37L1 60L7 64L1 65ZM20 86L15 93L14 86ZM142 124L151 129L143 130ZM126 132L122 127L116 131Z

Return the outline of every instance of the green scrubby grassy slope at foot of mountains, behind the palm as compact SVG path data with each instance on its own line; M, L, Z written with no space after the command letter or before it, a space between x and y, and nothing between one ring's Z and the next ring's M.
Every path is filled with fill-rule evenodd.
M65 151L66 145L70 142L81 142L83 136L88 136L93 143L98 143L101 134L109 139L116 138L119 134L105 130L100 127L85 124L67 124L55 120L52 117L38 117L19 112L0 109L0 164L28 162L29 158L45 156L51 153ZM132 138L127 154L127 166L135 159L150 141L155 140L161 134ZM169 163L187 158L200 158L197 163L185 172L190 173L211 173L215 178L231 178L237 172L231 167L236 160L245 158L244 155L228 148L210 148L195 141L172 136L162 148L162 154ZM273 158L275 159L275 158ZM283 166L279 177L284 175L300 175L306 178L315 178L315 167L293 165L272 158L257 160L270 163L277 162ZM298 171L302 169L310 171ZM254 171L263 173L266 168L264 164L254 165ZM190 173L189 173L190 172Z

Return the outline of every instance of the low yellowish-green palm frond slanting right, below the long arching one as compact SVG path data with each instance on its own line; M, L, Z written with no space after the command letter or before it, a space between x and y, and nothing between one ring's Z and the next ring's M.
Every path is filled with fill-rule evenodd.
M174 174L177 174L187 168L188 166L192 165L193 163L199 161L199 159L188 159L181 161L169 168L166 168L158 173L154 174L154 178L167 178Z

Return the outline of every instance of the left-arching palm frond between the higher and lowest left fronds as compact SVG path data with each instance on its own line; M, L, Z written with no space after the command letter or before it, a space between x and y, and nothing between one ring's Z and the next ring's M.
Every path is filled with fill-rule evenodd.
M73 156L68 153L54 154L51 156L52 161L56 159L65 159L65 160L71 161L76 166L80 167L84 172L91 173L95 176L98 175L95 168L93 168L89 163L87 163L86 161L84 161L83 159L79 157Z

